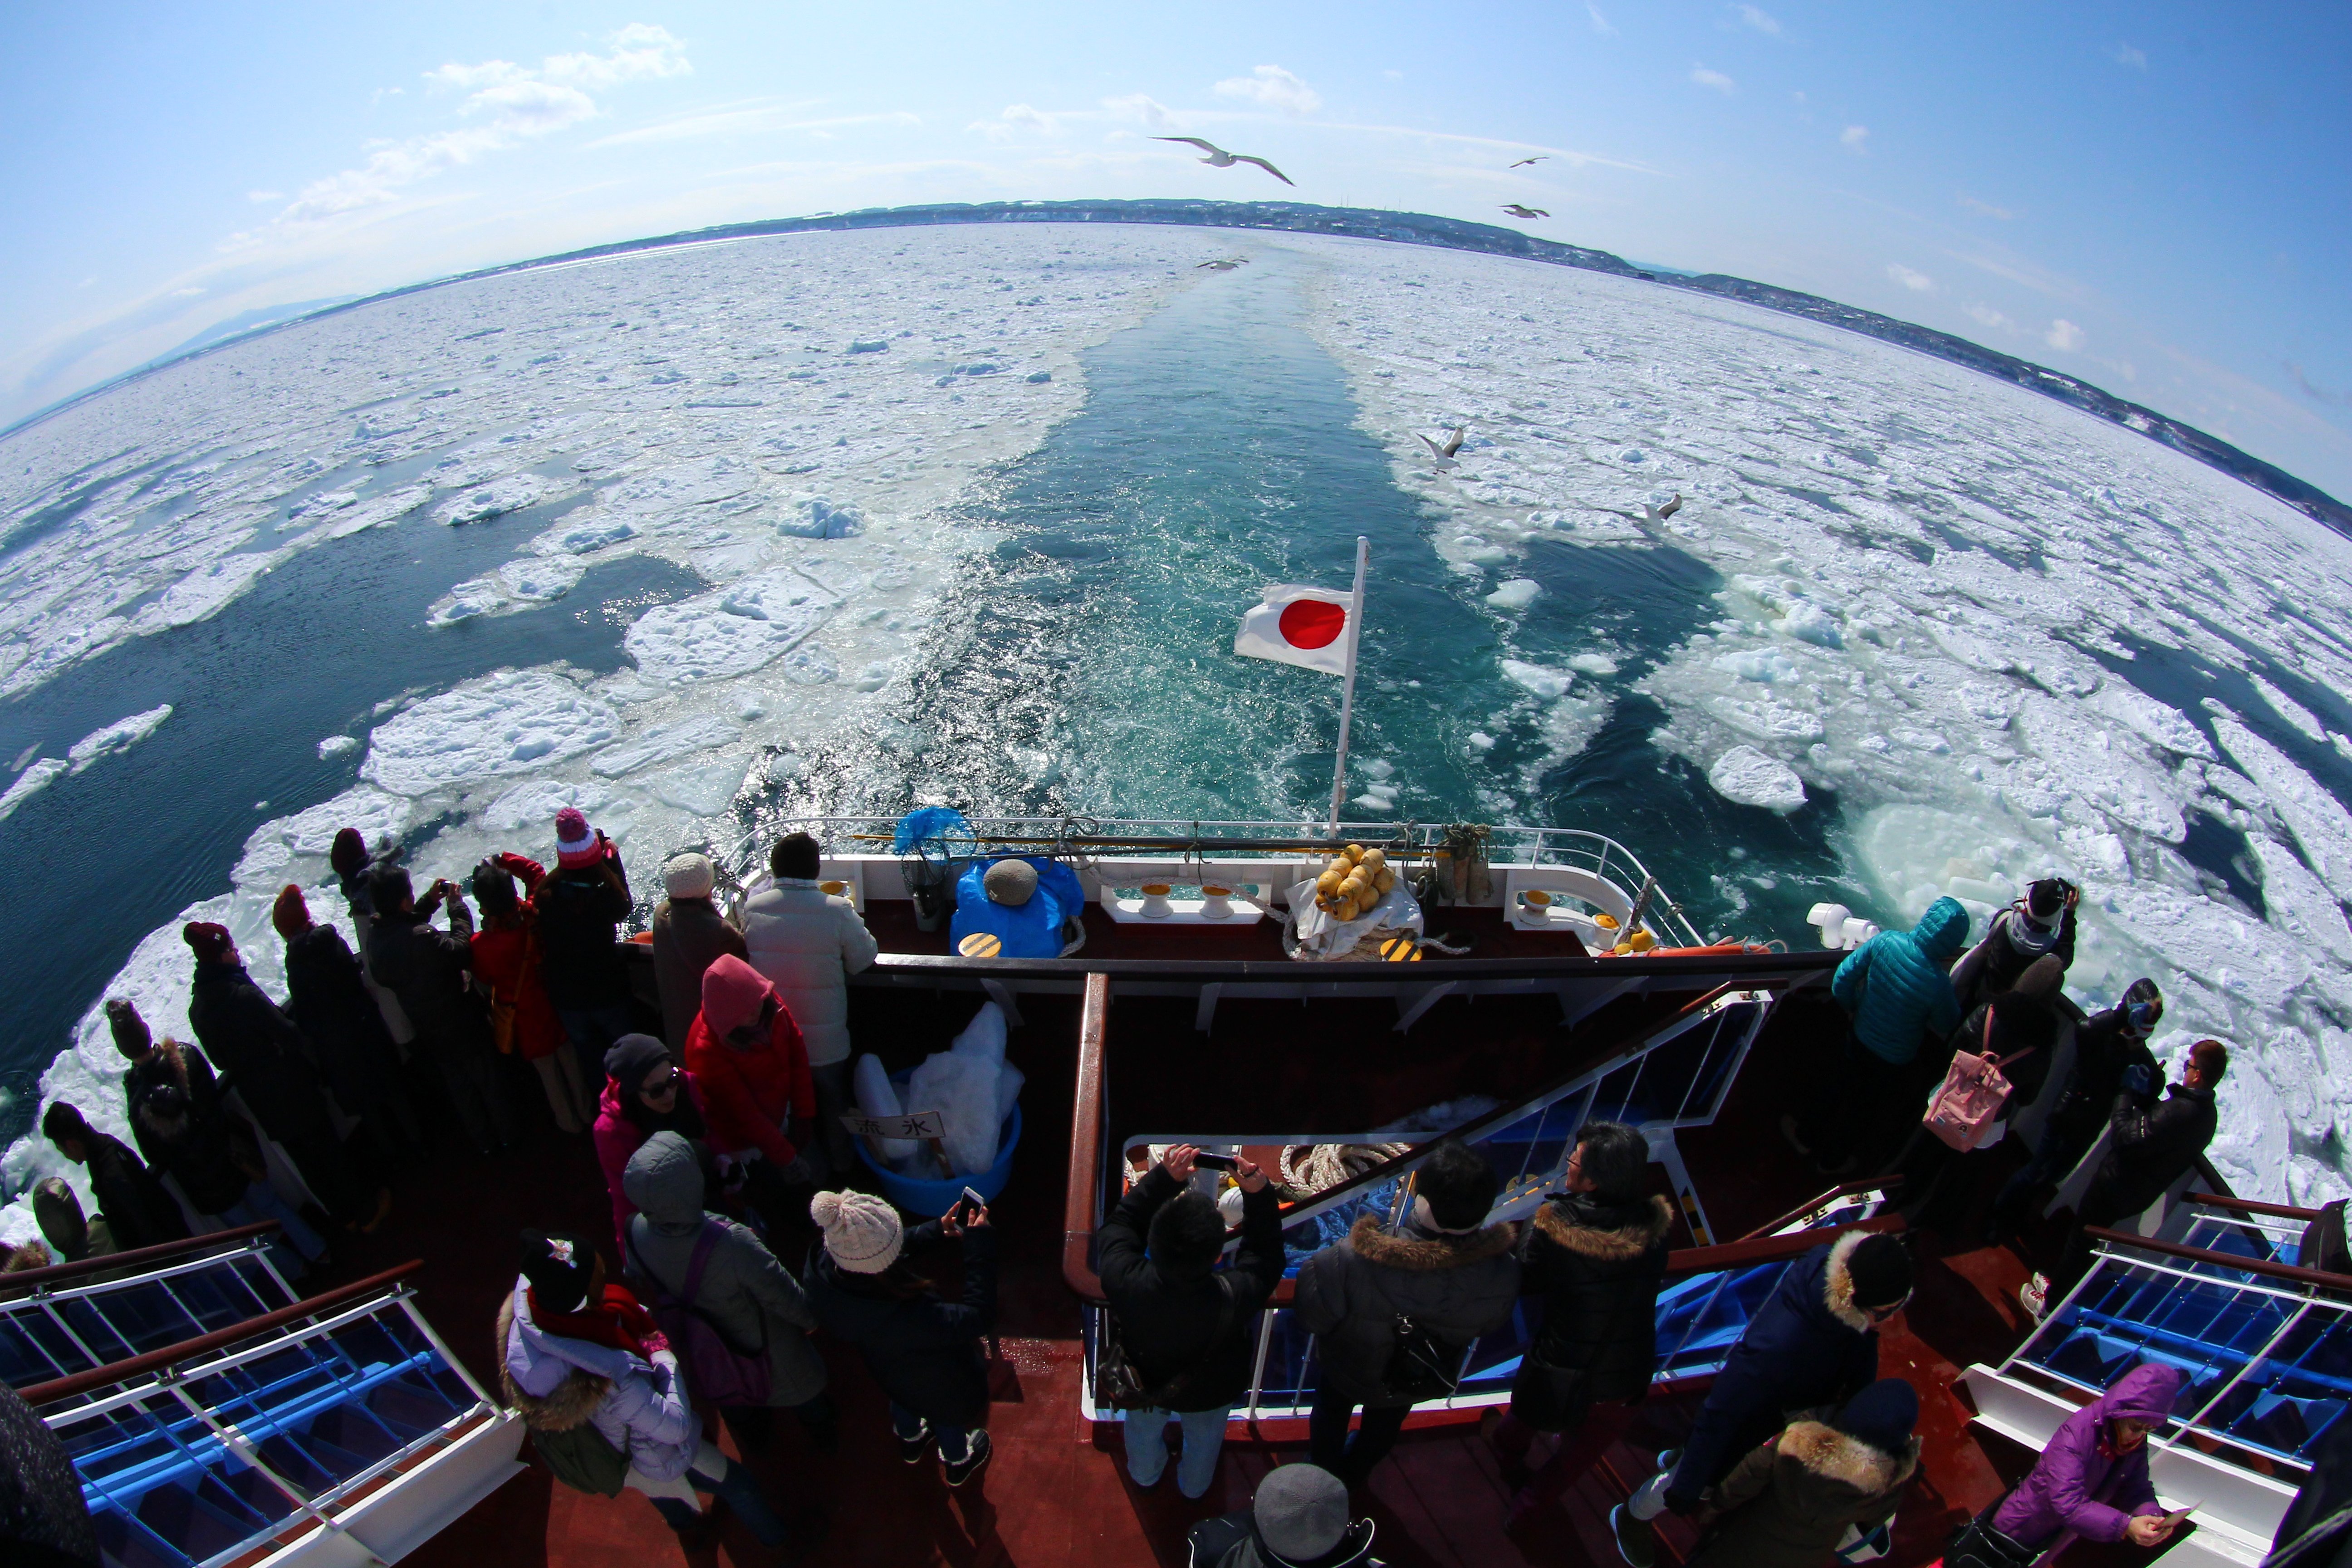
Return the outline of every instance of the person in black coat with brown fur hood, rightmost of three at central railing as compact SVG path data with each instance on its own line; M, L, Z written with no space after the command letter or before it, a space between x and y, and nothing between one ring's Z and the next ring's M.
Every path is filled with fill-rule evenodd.
M1616 1439L1658 1371L1658 1286L1675 1208L1649 1185L1649 1140L1623 1121L1576 1133L1566 1192L1545 1199L1519 1253L1519 1288L1543 1300L1494 1429L1503 1476L1522 1486L1515 1512L1557 1495ZM1595 1406L1602 1420L1588 1425ZM1578 1432L1541 1476L1526 1474L1538 1432Z

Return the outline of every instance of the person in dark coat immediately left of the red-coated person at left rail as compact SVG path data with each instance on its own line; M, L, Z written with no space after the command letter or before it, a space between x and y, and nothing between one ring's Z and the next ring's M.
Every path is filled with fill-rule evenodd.
M515 1124L499 1093L499 1044L489 1011L473 990L473 912L454 882L435 882L419 903L407 870L379 865L374 875L376 931L367 966L376 985L393 987L400 1011L416 1027L416 1056L433 1063L456 1103L466 1143L492 1154L515 1143ZM433 912L449 900L449 929Z

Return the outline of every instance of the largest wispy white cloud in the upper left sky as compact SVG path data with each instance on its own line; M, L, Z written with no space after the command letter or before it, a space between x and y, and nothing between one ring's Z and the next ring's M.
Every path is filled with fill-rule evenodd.
M416 181L593 120L600 110L588 96L588 87L602 89L694 71L684 45L666 28L633 21L607 42L612 54L550 54L536 71L503 59L449 61L426 71L428 87L468 94L459 115L470 125L369 143L367 162L310 181L294 193L294 200L268 228L230 235L221 249L252 249L296 223L318 223L362 207L395 202ZM256 195L254 200L275 197Z

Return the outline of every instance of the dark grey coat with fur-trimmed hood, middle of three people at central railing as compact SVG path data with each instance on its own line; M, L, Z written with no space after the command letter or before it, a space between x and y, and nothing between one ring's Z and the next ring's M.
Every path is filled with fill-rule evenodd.
M1411 1403L1390 1394L1385 1380L1397 1314L1449 1345L1494 1333L1519 1300L1517 1241L1515 1225L1449 1237L1359 1218L1345 1241L1298 1269L1294 1312L1308 1333L1322 1335L1322 1387L1359 1406Z

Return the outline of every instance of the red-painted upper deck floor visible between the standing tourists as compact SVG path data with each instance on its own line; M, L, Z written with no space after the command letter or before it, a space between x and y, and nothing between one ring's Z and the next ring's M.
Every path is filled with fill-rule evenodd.
M974 999L861 992L856 1006L863 1039L898 1039L903 1046L894 1056L913 1058L938 1048ZM1442 1004L1411 1039L1428 1046L1486 1034L1505 1018L1505 1034L1526 1027L1491 1001L1477 1016L1446 1011L1458 1006L1465 1004ZM854 1354L833 1349L833 1396L842 1410L837 1453L809 1450L800 1429L781 1420L769 1448L748 1460L788 1519L816 1509L830 1514L830 1537L807 1556L809 1563L1176 1566L1185 1561L1183 1537L1195 1519L1244 1507L1258 1476L1303 1458L1303 1425L1247 1434L1235 1427L1211 1493L1185 1502L1174 1490L1174 1467L1160 1488L1138 1490L1127 1481L1117 1429L1089 1429L1080 1420L1080 1316L1058 1272L1075 999L1023 999L1023 1009L1030 1023L1014 1032L1011 1056L1028 1072L1028 1131L1014 1180L997 1204L1004 1272L1002 1361L988 1415L995 1458L962 1490L941 1481L936 1460L901 1465L877 1389ZM1134 1018L1131 1027L1143 1023L1138 1009L1122 1009ZM1115 1020L1122 1009L1115 1009ZM1298 1009L1289 1016L1296 1018ZM1178 1023L1188 1032L1190 1018L1167 1020L1171 1037ZM1240 1034L1244 1018L1237 1016L1230 1030ZM1686 1140L1693 1175L1722 1234L1740 1234L1823 1185L1771 1131L1776 1098L1795 1086L1790 1074L1806 1058L1806 1034L1804 1004L1792 1001L1733 1091L1724 1124ZM1218 1037L1228 1037L1223 1016ZM1494 1070L1491 1063L1486 1070ZM515 1103L527 1105L539 1124L527 1152L402 1173L393 1220L374 1237L346 1241L334 1272L334 1279L350 1279L423 1258L421 1307L485 1382L494 1378L492 1316L513 1279L515 1232L524 1225L569 1227L602 1241L612 1213L586 1135L562 1138L536 1114L536 1088L527 1081L513 1088L529 1091ZM1733 1168L1738 1180L1726 1180ZM797 1248L807 1241L802 1234L783 1246L790 1265L797 1267ZM2030 1462L2030 1455L1980 1450L1964 1429L1966 1408L1947 1392L1966 1361L1997 1354L2018 1333L2016 1305L2004 1307L2004 1298L2023 1279L2023 1267L1997 1251L1938 1260L1929 1246L1924 1255L1919 1305L1905 1328L1889 1335L1884 1352L1891 1373L1900 1371L1919 1385L1929 1410L1929 1462L1905 1509L1891 1568L1933 1561L1950 1526L1983 1507L2004 1476L2013 1479ZM1696 1401L1696 1392L1661 1392L1623 1443L1512 1528L1505 1528L1510 1490L1477 1425L1411 1427L1359 1500L1378 1521L1378 1556L1399 1568L1616 1563L1606 1512L1630 1481L1646 1474L1649 1455L1686 1427ZM734 1453L731 1439L722 1443ZM1538 1443L1534 1458L1541 1462L1548 1453L1550 1439ZM1670 1537L1668 1544L1684 1542ZM419 1568L473 1568L485 1561L649 1568L677 1556L677 1540L635 1493L586 1497L532 1467L407 1561ZM717 1559L746 1566L776 1561L739 1526L724 1530L710 1561Z

